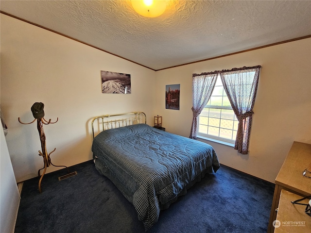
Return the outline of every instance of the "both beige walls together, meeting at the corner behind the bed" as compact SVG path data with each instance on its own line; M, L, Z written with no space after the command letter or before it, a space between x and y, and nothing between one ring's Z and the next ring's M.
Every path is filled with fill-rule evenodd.
M192 73L261 65L249 154L209 143L222 164L274 182L293 141L311 143L310 54L311 38L155 72L1 14L1 108L17 181L42 167L36 126L17 121L33 119L36 101L59 117L44 126L52 162L71 166L91 159L93 116L144 111L148 124L161 115L167 131L188 137ZM133 94L102 94L100 70L131 74ZM165 109L167 84L180 84L180 110Z

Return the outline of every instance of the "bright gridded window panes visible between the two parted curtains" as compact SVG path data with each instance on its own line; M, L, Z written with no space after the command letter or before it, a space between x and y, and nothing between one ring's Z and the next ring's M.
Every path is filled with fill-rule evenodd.
M198 117L198 135L234 144L238 124L218 74L212 95Z

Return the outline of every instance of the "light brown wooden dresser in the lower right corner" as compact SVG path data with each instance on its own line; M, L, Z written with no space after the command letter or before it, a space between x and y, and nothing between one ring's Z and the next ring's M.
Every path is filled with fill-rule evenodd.
M281 190L287 190L302 197L311 196L311 178L307 178L302 175L302 172L306 168L311 171L311 144L294 142L276 177L276 187L272 201L268 233L274 233L275 229L278 229L276 232L281 229L273 226L273 221L276 220L277 215L276 209L279 207ZM281 199L286 199L288 197L285 194L282 196ZM282 200L281 202L283 203ZM285 214L285 216L292 216L294 213L284 213L283 211L287 212L293 204L290 201L285 203L288 203L287 205L289 208L280 208L278 215L284 216ZM282 213L280 213L280 211L282 211ZM303 214L308 216L304 212ZM302 230L302 232L306 230L306 232L309 233L310 230L308 229L311 227L311 216L308 216L306 219L309 219L309 221L306 222L306 227L301 226L300 230ZM292 220L284 219L284 221Z

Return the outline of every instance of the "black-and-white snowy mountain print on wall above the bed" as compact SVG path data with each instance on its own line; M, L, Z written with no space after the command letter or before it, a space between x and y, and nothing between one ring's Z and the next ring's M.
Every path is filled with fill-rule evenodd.
M102 92L131 94L131 75L101 71Z

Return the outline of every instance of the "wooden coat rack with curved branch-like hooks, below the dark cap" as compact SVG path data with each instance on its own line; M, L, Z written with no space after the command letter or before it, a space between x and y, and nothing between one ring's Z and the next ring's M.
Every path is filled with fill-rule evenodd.
M20 117L18 117L18 121L19 121L19 123L24 124L24 125L29 125L29 124L32 124L35 121L37 121L37 129L38 129L38 132L39 132L39 135L40 135L41 150L42 150L42 152L39 150L39 155L43 157L43 161L44 161L44 167L42 167L41 169L38 170L38 177L40 177L40 170L44 169L43 173L42 173L42 175L40 177L39 184L38 184L39 192L41 193L41 181L42 181L43 176L44 176L44 174L45 174L45 172L47 170L47 167L51 166L51 165L52 166L56 166L56 165L52 164L51 158L50 158L50 155L56 150L56 148L54 148L54 150L52 150L50 153L48 153L47 147L46 147L46 143L45 143L45 133L44 133L44 130L43 130L43 124L44 125L54 124L54 123L56 123L58 121L58 117L57 117L57 120L55 122L51 122L51 119L49 119L49 121L47 121L46 119L44 119L44 117L35 118L32 122L29 122L29 123L22 122L20 120ZM61 166L61 167L66 167L68 172L69 172L69 168L67 166Z

